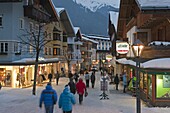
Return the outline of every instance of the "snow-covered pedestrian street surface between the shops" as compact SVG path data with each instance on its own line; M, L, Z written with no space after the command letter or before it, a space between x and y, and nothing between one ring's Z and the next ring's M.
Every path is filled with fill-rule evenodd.
M95 88L88 88L89 95L84 97L82 105L78 103L78 95L76 94L76 105L73 107L72 113L135 113L136 112L136 98L129 94L123 93L121 85L119 91L115 90L115 86L109 85L107 92L109 99L100 100L100 82L99 72L96 73L97 81ZM58 97L62 92L65 84L68 83L68 78L60 78L59 85L53 82L53 88L57 91ZM44 107L39 108L39 96L41 91L45 88L37 86L36 96L32 95L32 87L24 89L12 89L3 87L0 90L0 113L45 113ZM148 108L141 103L141 113L169 113L170 108ZM62 113L55 105L54 113Z

